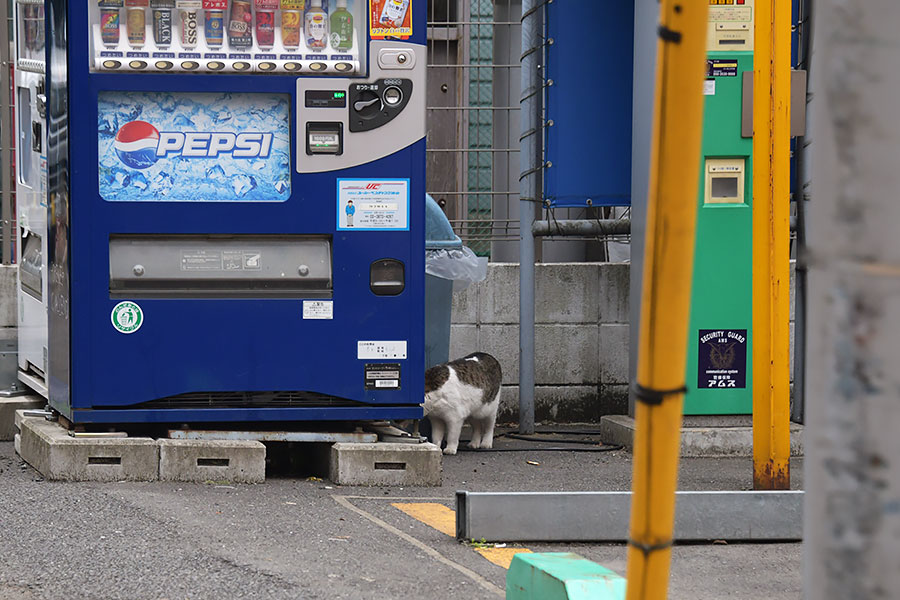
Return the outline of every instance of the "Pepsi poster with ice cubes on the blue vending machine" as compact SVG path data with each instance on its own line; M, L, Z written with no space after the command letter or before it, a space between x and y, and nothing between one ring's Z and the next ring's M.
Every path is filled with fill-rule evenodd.
M101 92L100 196L109 202L284 202L287 95Z

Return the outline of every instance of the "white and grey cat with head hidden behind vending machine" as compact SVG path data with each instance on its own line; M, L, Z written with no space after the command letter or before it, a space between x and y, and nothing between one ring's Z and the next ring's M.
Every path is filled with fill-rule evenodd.
M470 448L494 444L494 423L500 406L500 363L485 352L475 352L425 371L425 416L431 421L432 442L444 454L456 454L459 434L467 420L472 425Z

